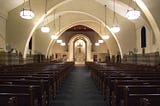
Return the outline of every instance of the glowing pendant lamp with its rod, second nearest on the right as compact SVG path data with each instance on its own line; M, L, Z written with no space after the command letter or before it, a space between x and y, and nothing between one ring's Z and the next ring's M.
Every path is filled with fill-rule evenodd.
M114 33L117 33L119 32L121 29L120 29L120 26L118 25L118 20L117 20L117 17L116 17L116 12L115 12L115 0L114 0L114 15L113 15L113 25L111 26L111 31L114 32Z

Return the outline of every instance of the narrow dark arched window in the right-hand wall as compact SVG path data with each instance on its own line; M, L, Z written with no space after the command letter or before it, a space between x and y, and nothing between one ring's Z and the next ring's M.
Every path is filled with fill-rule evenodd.
M141 29L141 48L146 47L146 28L143 26Z

